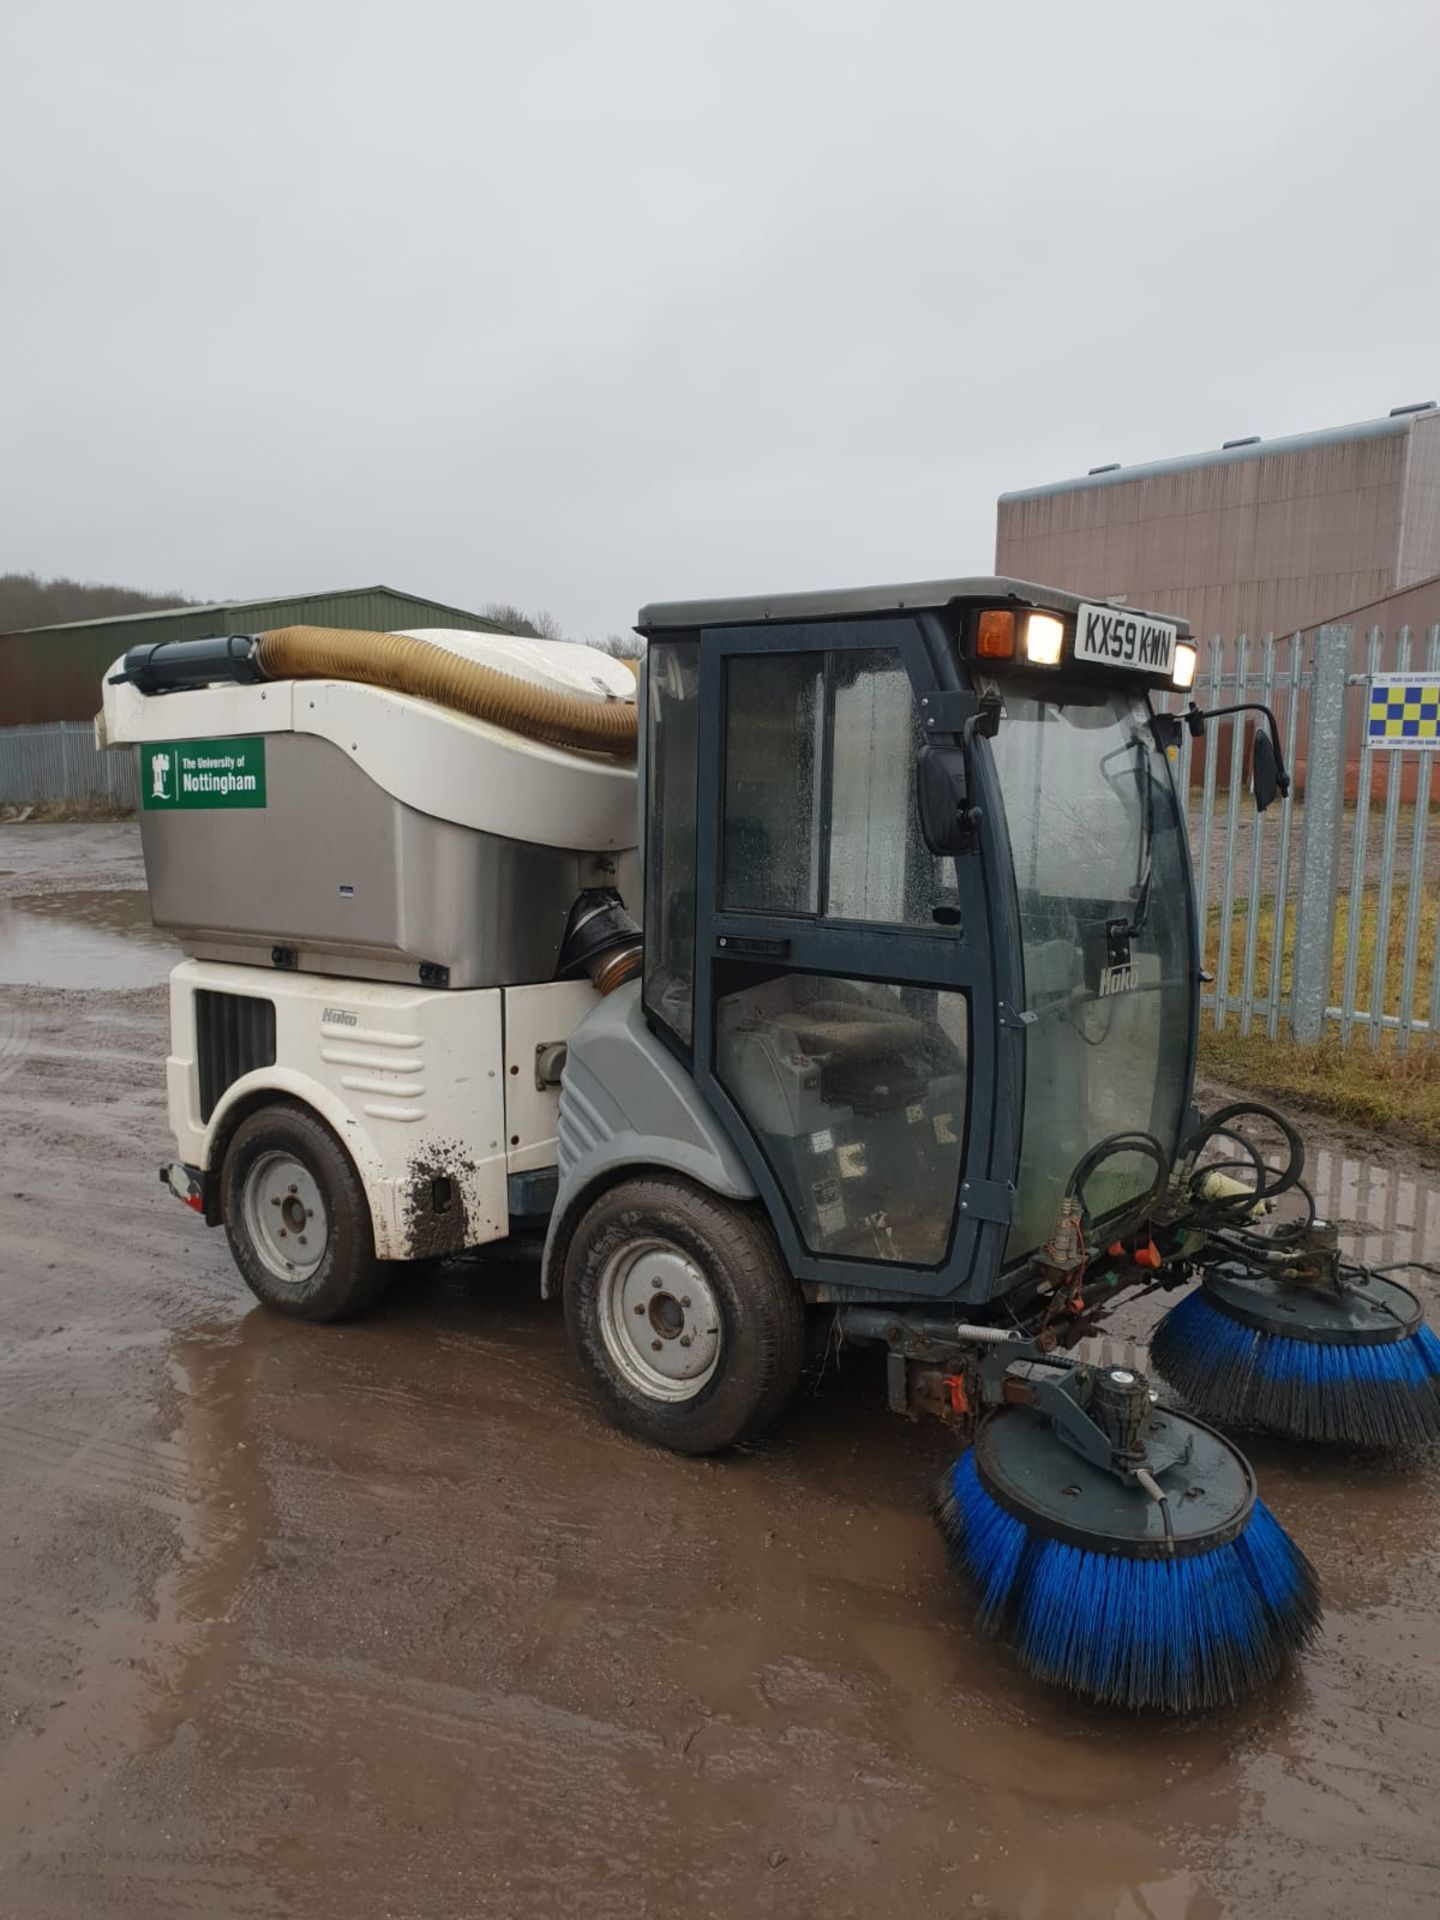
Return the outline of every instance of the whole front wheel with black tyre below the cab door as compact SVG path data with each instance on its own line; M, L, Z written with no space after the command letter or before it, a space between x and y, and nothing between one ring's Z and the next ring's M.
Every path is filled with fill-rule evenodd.
M611 1187L564 1261L570 1344L612 1419L678 1453L755 1438L804 1357L804 1306L768 1223L657 1175Z

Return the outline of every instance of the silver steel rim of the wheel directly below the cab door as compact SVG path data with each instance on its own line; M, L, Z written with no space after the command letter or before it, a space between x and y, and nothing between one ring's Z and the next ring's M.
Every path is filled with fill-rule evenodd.
M670 1240L632 1240L611 1254L599 1281L599 1325L605 1352L649 1400L693 1400L720 1365L720 1300Z

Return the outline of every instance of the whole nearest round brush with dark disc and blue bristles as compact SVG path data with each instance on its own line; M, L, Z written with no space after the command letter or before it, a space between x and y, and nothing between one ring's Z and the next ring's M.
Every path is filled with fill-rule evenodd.
M1033 1407L987 1419L947 1475L941 1530L979 1624L1041 1680L1108 1705L1188 1713L1242 1699L1313 1634L1315 1574L1256 1498L1250 1463L1156 1409L1188 1461L1158 1505L1068 1448Z

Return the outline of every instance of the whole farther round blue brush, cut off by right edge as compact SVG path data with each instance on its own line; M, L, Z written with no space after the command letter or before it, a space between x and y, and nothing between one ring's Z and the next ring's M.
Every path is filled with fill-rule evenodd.
M1206 1419L1296 1440L1440 1440L1440 1340L1382 1275L1344 1296L1217 1267L1164 1317L1160 1373Z

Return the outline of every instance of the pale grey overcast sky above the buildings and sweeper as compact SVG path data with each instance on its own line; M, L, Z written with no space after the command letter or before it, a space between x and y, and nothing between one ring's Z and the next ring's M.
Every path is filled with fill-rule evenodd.
M987 570L1440 397L1440 8L0 0L0 570L549 607Z

